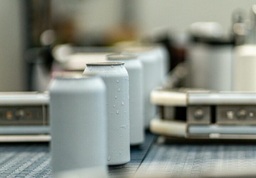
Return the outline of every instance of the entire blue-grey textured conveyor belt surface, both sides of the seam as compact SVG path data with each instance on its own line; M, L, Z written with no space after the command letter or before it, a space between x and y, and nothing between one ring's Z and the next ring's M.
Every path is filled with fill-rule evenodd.
M110 177L256 175L255 142L181 143L174 139L164 144L153 143L155 138L147 134L144 145L131 149L131 161L123 168L111 169ZM0 144L0 177L51 177L48 144Z

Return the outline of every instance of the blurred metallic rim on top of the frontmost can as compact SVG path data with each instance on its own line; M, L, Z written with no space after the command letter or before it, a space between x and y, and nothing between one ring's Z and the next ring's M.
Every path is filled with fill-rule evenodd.
M80 72L54 72L53 77L55 79L84 79L97 76L96 74L82 74Z

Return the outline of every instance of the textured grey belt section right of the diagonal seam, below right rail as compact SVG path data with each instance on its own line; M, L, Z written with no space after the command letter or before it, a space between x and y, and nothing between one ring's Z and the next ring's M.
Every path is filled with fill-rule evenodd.
M139 177L208 177L255 174L256 145L233 143L154 143L140 165ZM222 177L222 176L220 176Z

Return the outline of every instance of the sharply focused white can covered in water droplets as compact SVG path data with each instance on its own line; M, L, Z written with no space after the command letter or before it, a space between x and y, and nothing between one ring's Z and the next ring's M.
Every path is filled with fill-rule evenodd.
M87 63L84 74L98 74L107 86L108 157L110 166L130 161L129 77L123 62Z

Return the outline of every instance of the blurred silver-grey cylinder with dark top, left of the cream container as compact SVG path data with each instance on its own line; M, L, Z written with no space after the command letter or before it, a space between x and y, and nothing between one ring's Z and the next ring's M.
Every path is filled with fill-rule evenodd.
M231 90L233 45L194 43L188 48L188 87Z

